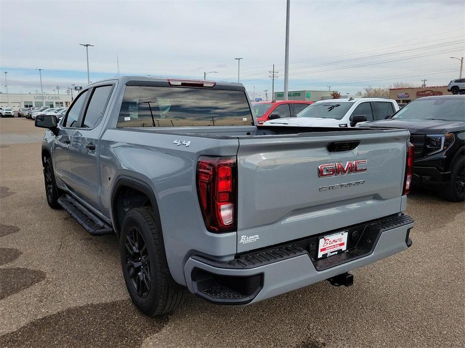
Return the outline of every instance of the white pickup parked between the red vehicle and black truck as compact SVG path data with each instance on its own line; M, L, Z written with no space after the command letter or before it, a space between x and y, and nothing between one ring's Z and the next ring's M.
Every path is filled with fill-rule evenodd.
M391 117L399 105L393 99L350 98L320 100L305 108L297 117L278 118L263 125L298 127L355 127L357 123Z

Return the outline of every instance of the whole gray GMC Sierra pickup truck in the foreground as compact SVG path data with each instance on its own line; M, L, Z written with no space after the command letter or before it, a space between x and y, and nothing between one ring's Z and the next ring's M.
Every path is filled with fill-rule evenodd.
M250 304L407 249L413 146L404 129L256 126L241 84L118 77L41 115L47 201L116 233L148 315L185 288Z

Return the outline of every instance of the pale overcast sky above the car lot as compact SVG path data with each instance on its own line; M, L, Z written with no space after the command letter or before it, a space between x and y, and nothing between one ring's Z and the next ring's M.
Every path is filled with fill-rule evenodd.
M286 1L0 1L0 69L10 93L117 74L284 85ZM290 90L341 94L394 82L444 85L465 54L465 1L291 0ZM2 92L5 75L2 74Z

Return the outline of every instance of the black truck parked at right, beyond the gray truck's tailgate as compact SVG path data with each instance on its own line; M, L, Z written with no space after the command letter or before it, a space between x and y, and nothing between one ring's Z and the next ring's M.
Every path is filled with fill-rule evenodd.
M464 200L465 95L419 98L390 119L362 126L407 128L415 146L413 185L441 190L449 201Z

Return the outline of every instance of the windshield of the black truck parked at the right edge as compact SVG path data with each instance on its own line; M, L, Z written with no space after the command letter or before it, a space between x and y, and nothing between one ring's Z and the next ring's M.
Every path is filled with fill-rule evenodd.
M400 109L392 119L465 121L465 98L417 99Z

